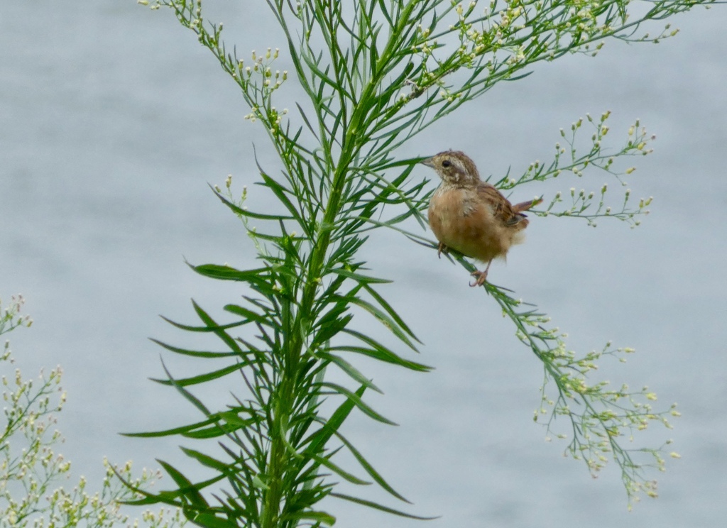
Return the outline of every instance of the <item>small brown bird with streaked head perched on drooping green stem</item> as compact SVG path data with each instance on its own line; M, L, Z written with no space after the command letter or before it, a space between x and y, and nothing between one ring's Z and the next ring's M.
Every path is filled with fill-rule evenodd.
M429 203L429 224L439 240L437 255L449 248L487 263L476 271L470 286L487 279L492 259L505 259L513 244L523 242L528 226L523 211L542 202L530 200L513 206L494 185L483 182L475 163L458 150L446 150L422 161L442 179Z

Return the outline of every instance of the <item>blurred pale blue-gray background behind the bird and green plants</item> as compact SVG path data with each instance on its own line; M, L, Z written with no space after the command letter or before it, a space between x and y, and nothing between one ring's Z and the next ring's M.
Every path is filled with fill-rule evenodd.
M210 2L208 10L241 57L285 47L265 2ZM220 314L241 295L235 284L196 276L183 259L254 264L249 239L207 183L233 174L239 192L257 181L252 145L274 171L267 139L259 123L244 121L236 85L168 10L37 0L4 2L0 19L0 296L7 304L23 293L35 320L10 336L18 366L26 377L65 370L58 427L67 442L58 450L74 479L100 482L104 455L137 468L156 467L154 458L181 465L178 440L118 433L199 418L148 381L164 373L161 349L147 337L188 344L158 314L194 322L190 298ZM401 426L357 417L346 433L414 503L408 511L441 515L426 526L713 527L727 516L727 10L670 22L681 32L659 45L608 41L595 59L563 57L501 84L400 155L457 148L484 176L499 177L550 161L558 129L587 112L613 112L609 145L635 118L656 134L655 153L633 160L638 170L628 178L636 198L654 196L641 227L536 217L528 242L490 277L550 314L574 349L608 340L635 347L626 365L604 365L608 379L648 383L664 407L678 402L675 429L653 426L644 440L673 438L683 458L657 475L659 499L628 513L614 468L594 480L561 456L565 444L544 442L531 420L542 368L491 298L433 251L377 232L365 256L374 275L395 281L382 291L425 343L418 359L436 370L354 358L386 393L371 396L372 405ZM289 68L284 52L277 67ZM424 167L415 174L435 176ZM598 190L606 181L586 173L556 187ZM251 207L265 208L265 190L251 191ZM518 188L513 199L541 192ZM164 357L175 375L197 367ZM222 393L198 392L214 402L225 401ZM423 526L334 500L326 508L343 527Z

